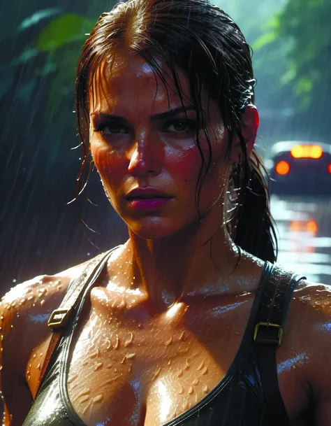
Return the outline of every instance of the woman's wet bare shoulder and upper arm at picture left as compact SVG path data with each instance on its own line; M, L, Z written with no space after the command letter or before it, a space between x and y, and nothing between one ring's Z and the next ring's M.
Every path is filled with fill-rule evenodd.
M22 425L27 416L32 402L29 376L36 376L29 364L31 353L49 343L52 330L47 326L47 320L50 313L61 304L69 283L82 273L86 263L52 276L37 276L15 285L2 297L0 386L5 411L4 425ZM20 399L19 410L17 398Z

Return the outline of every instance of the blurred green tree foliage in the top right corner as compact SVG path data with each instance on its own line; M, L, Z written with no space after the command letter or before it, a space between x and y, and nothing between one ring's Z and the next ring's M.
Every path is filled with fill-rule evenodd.
M288 58L281 78L295 104L293 126L330 143L325 115L331 96L330 0L290 0L268 22L270 31L255 42L256 48L274 50L283 45ZM284 43L285 41L285 43Z

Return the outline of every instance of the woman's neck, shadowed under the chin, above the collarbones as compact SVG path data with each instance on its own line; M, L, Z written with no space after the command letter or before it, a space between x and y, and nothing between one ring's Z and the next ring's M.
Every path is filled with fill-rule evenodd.
M162 311L182 297L219 288L237 264L237 248L212 215L180 234L142 239L129 230L122 259L126 274ZM127 269L128 268L128 269Z

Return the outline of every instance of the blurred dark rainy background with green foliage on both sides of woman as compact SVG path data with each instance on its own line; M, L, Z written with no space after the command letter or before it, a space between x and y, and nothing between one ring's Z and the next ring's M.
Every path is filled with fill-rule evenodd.
M253 47L267 157L281 139L330 143L331 0L215 1ZM52 274L126 239L96 173L75 204L75 64L114 1L0 2L0 285ZM93 243L91 243L91 240Z

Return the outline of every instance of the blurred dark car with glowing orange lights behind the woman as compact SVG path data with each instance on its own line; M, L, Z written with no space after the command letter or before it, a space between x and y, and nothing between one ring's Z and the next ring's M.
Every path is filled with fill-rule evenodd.
M331 145L277 142L265 166L272 194L331 196Z

